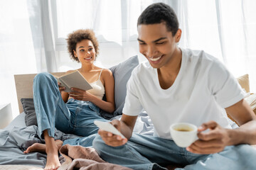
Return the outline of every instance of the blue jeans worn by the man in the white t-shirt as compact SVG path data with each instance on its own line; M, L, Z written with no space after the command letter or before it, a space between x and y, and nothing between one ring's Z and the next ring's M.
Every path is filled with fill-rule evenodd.
M166 169L180 164L183 169L256 169L256 149L250 145L225 147L217 154L193 154L178 147L173 140L133 134L126 145L110 147L97 135L92 143L106 162L131 169Z

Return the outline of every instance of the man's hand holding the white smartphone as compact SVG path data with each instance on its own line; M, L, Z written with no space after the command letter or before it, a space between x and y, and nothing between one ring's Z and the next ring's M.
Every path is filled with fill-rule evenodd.
M112 125L114 125L117 130L120 131L121 128L121 122L119 120L112 120L110 122ZM127 138L122 138L119 135L114 135L111 132L107 132L105 130L99 130L98 134L102 137L102 140L112 147L119 147L124 145L127 142Z

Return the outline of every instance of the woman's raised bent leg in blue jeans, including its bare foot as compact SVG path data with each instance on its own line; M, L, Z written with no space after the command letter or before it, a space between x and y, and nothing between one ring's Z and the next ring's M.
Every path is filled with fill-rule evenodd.
M57 169L58 146L54 140L55 125L58 130L68 132L70 127L70 111L58 89L58 82L48 73L37 74L33 80L33 101L36 109L39 135L46 141L47 162L45 169Z

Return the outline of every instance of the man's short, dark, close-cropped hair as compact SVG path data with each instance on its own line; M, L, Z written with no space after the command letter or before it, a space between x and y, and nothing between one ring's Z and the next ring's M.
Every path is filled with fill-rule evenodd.
M148 6L138 18L137 26L141 24L165 23L168 31L175 35L178 30L178 18L174 9L164 3Z

